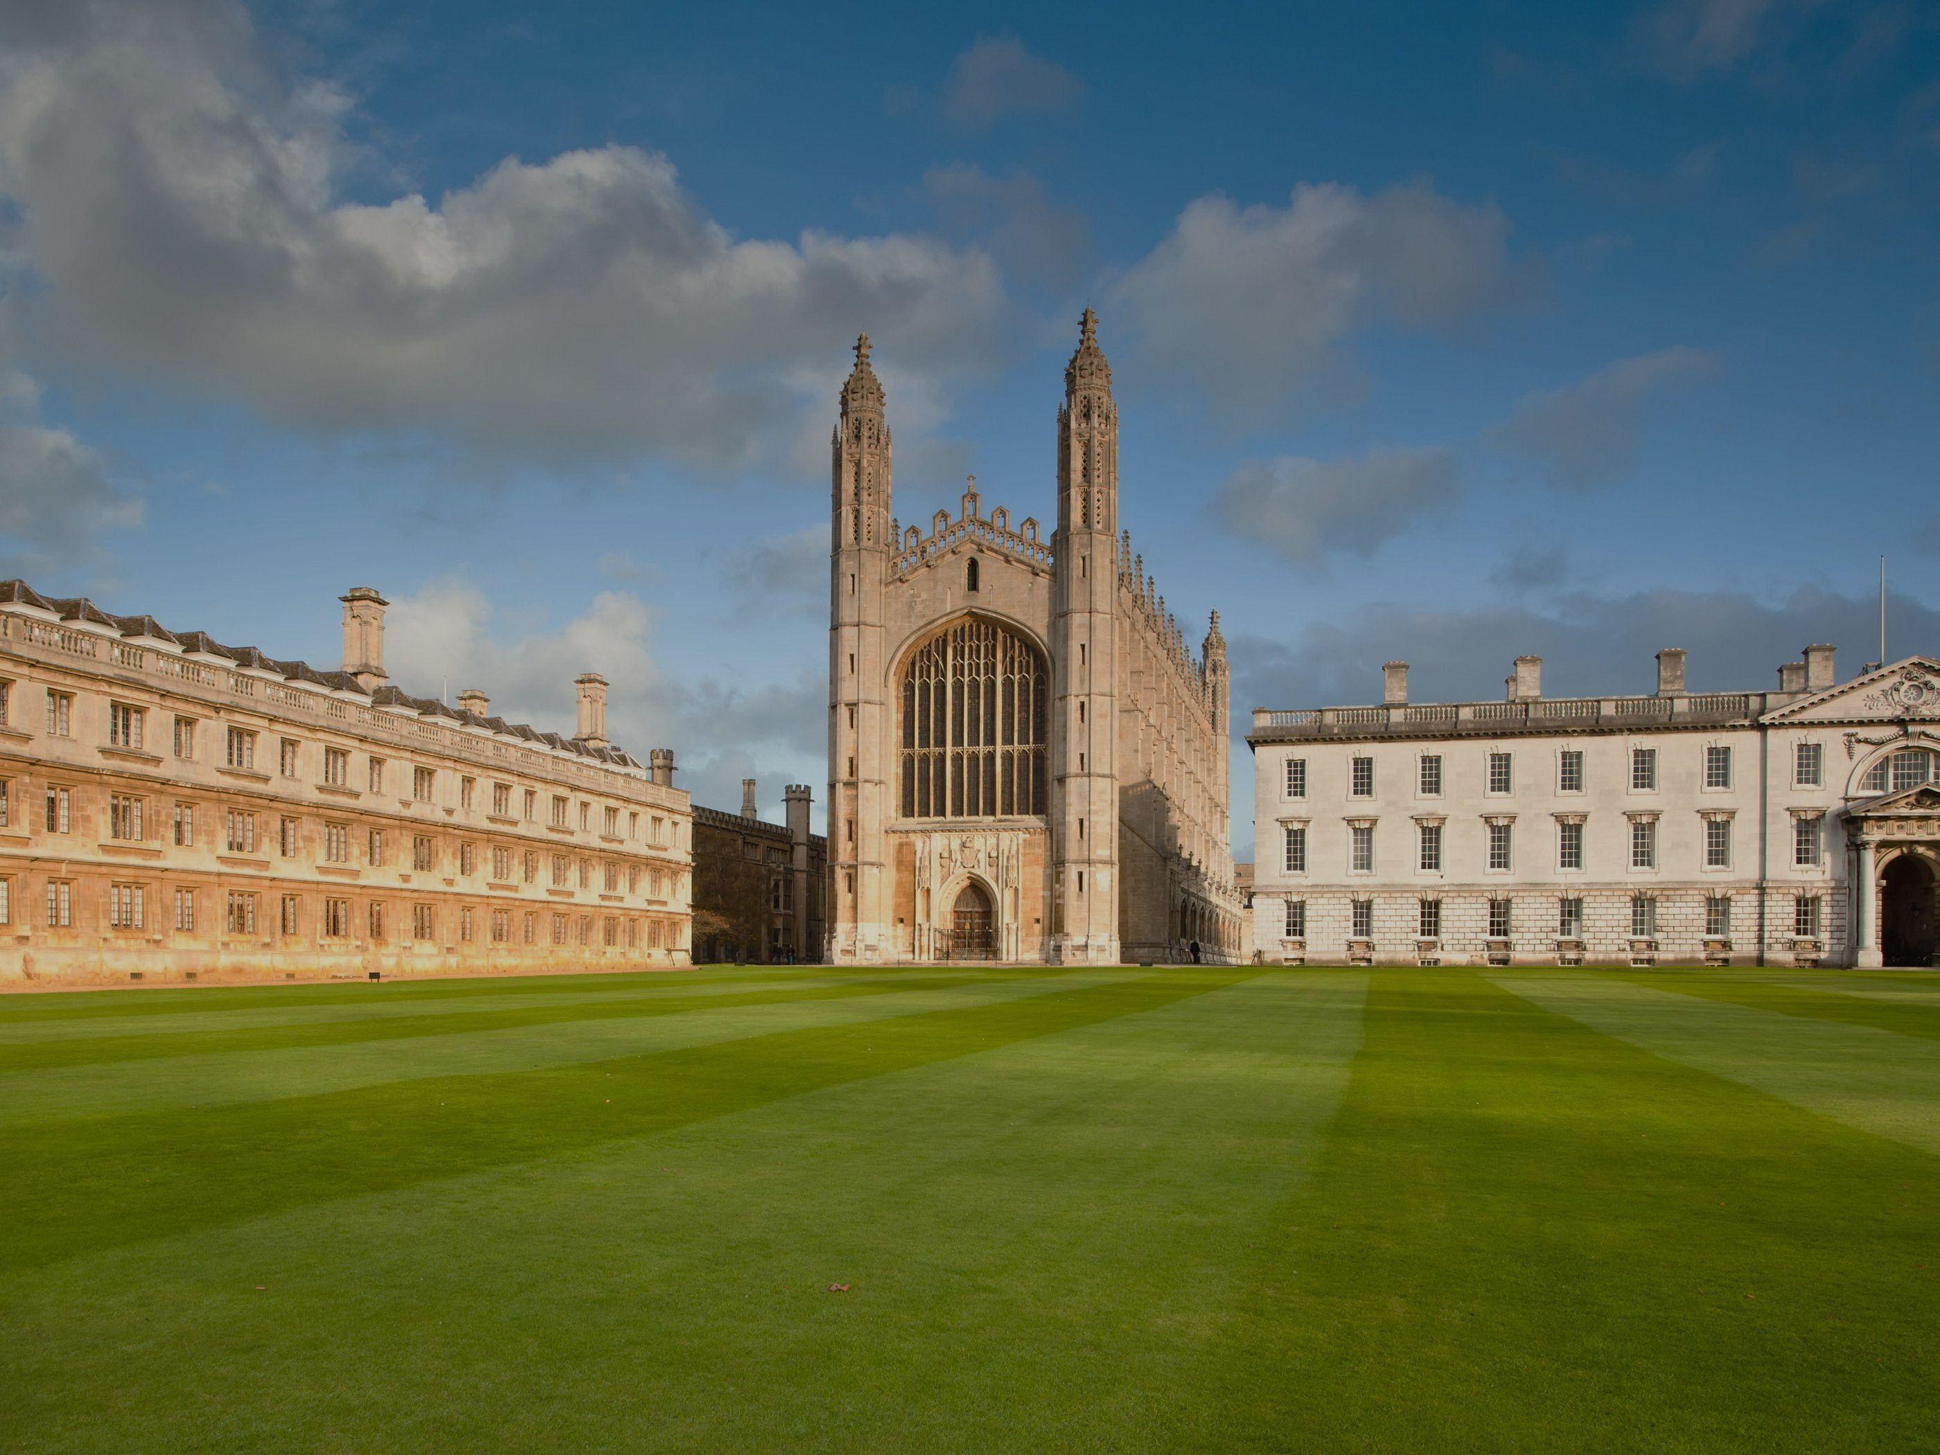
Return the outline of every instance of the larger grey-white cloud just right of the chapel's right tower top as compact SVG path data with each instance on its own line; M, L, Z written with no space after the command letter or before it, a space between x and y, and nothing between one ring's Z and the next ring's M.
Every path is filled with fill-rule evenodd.
M1494 206L1463 206L1426 182L1372 196L1296 186L1284 208L1203 196L1114 287L1141 351L1214 402L1257 415L1341 367L1366 324L1453 324L1511 301L1527 270Z

